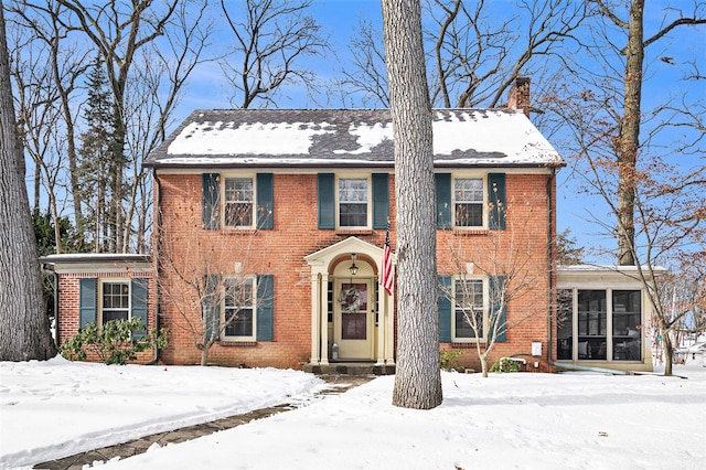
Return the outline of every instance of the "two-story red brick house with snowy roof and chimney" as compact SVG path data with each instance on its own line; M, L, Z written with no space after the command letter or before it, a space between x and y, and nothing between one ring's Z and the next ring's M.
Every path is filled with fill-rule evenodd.
M520 85L510 108L432 111L439 342L463 351L458 361L469 368L479 368L477 335L491 332L491 363L514 355L528 370L553 371L557 359L586 360L578 335L565 329L557 339L550 301L555 175L565 163L530 121L528 84ZM396 299L379 287L388 227L396 247L392 139L385 109L192 113L145 161L158 227L143 271L149 322L170 330L159 360L199 363L205 337L214 364L393 372ZM77 299L89 281L60 271L64 339L107 317L103 293L84 308ZM76 305L62 303L69 291ZM464 321L469 312L479 330ZM559 351L567 341L570 352ZM610 366L616 351L599 364ZM648 355L629 366L646 367Z

